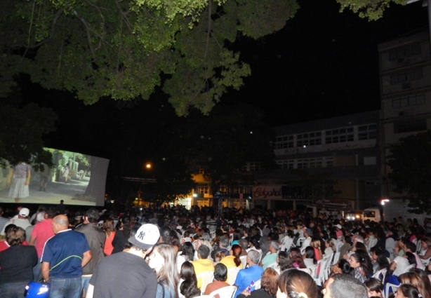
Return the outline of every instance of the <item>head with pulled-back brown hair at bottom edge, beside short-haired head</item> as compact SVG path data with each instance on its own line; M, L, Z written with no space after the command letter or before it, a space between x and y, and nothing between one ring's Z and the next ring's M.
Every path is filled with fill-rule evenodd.
M310 274L298 269L280 273L277 298L317 298L317 285Z

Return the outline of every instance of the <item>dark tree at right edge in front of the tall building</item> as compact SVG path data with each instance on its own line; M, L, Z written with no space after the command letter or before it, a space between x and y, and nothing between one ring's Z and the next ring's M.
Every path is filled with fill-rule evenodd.
M413 212L431 214L431 131L410 135L390 148L392 172L387 176L399 194L406 194Z

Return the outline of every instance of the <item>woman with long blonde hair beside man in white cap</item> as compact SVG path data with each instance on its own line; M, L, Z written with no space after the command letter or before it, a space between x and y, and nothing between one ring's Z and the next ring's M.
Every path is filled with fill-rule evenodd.
M173 246L165 243L155 245L148 265L156 271L156 298L178 298L178 271Z

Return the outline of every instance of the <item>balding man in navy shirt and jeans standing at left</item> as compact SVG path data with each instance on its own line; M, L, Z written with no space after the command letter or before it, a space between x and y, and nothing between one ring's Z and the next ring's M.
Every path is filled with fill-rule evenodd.
M42 277L51 284L50 298L79 298L82 267L91 259L83 233L69 229L65 215L53 219L55 236L46 241L42 252Z

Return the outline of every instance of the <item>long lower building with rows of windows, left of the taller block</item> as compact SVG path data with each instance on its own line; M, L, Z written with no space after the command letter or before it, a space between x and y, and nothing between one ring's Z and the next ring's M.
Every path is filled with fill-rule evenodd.
M274 128L274 154L279 169L260 175L258 187L262 190L266 185L265 191L272 196L262 199L256 187L255 205L277 208L286 206L286 200L310 203L338 198L354 201L356 208L362 208L367 201L378 201L378 121L379 111L369 111ZM303 180L308 190L293 187L298 180ZM328 180L335 183L324 182ZM310 191L311 187L319 189L319 184L333 189Z

